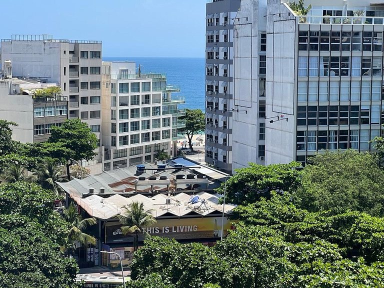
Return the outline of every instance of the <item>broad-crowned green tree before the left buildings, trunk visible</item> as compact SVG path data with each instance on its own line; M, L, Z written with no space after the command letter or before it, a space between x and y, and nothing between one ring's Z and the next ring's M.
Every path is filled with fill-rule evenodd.
M96 153L97 137L88 127L87 123L80 119L67 119L60 127L53 126L48 143L55 143L64 149L54 149L51 158L65 159L66 173L70 180L69 167L73 160L90 160ZM54 147L56 148L56 147Z

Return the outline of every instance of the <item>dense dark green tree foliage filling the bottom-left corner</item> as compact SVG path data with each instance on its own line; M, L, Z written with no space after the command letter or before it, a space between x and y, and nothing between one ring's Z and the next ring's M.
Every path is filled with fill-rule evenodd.
M0 185L1 287L76 287L77 264L60 250L67 224L54 199L37 184Z

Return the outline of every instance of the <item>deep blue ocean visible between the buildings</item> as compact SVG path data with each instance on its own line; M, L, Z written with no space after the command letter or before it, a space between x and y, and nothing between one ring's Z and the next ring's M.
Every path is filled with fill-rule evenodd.
M205 59L173 57L102 57L104 61L134 61L141 65L141 73L165 73L168 84L180 87L185 96L182 107L204 111Z

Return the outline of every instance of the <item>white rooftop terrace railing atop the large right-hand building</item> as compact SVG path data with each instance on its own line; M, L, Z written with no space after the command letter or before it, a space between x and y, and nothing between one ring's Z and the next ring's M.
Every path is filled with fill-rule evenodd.
M300 24L363 24L382 25L384 17L366 16L296 16Z

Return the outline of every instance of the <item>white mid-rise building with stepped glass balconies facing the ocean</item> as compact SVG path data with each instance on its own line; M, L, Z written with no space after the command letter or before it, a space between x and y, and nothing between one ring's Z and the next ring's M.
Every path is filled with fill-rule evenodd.
M152 162L158 151L176 152L185 126L183 96L164 74L144 74L135 62L103 62L102 143L105 171ZM105 89L105 90L104 90Z

